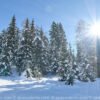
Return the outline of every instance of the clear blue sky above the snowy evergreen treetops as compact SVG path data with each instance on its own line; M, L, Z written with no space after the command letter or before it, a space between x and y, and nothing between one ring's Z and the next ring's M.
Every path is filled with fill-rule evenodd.
M14 14L20 29L27 17L33 18L47 36L52 21L61 22L68 41L75 45L77 22L99 20L100 0L0 0L0 31L7 28Z

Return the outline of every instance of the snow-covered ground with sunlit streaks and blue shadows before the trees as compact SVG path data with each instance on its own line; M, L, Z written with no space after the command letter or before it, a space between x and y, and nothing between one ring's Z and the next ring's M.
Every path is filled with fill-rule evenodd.
M0 77L0 100L100 100L100 79L74 86L59 82L57 77L41 80Z

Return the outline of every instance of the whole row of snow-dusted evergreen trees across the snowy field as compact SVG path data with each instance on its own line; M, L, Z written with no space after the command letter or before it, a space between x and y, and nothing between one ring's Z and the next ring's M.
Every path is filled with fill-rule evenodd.
M0 34L0 75L13 75L12 68L16 68L19 75L25 72L26 77L58 75L59 80L68 85L73 85L75 79L94 81L96 55L87 32L86 25L80 21L75 55L61 23L52 22L48 39L42 28L35 27L34 20L30 23L26 19L20 30L13 16L8 28Z

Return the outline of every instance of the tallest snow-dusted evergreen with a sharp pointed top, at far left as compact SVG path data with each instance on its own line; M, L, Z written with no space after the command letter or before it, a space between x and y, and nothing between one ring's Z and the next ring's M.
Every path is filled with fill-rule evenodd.
M11 73L12 66L16 66L17 50L18 50L18 28L15 23L15 16L6 31L3 31L3 46L1 62L4 69Z

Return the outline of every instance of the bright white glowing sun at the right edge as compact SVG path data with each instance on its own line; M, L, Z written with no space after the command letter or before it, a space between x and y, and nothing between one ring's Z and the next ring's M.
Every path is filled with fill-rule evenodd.
M100 22L95 22L90 26L90 34L100 37Z

